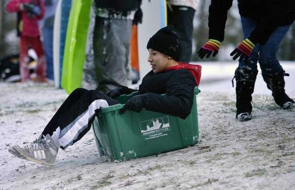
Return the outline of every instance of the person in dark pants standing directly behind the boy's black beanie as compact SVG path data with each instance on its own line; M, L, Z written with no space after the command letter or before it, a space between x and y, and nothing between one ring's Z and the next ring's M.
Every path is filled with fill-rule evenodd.
M180 37L179 61L189 63L192 53L193 20L199 0L167 0L167 24L173 25Z

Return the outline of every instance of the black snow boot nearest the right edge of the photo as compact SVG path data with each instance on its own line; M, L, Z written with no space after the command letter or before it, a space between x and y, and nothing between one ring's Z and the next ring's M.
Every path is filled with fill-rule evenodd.
M277 105L281 106L283 109L289 109L295 102L289 98L285 93L285 80L284 76L289 76L284 70L279 74L266 75L262 73L264 82L266 82L267 88L272 91L274 101Z

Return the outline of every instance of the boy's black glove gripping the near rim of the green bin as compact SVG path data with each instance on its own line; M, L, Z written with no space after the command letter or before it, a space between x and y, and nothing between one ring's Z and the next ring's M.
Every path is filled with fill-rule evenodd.
M136 95L130 98L122 109L120 109L119 113L123 114L126 110L131 110L133 112L140 112L143 108L145 108L147 94Z

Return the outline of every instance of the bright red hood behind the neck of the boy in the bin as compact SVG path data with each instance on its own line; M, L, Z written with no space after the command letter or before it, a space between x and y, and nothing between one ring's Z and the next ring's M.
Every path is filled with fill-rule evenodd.
M178 69L186 69L191 72L191 74L194 75L196 79L196 85L199 86L200 79L201 79L201 65L192 65L188 63L178 62L179 65L168 67L165 70L178 70Z

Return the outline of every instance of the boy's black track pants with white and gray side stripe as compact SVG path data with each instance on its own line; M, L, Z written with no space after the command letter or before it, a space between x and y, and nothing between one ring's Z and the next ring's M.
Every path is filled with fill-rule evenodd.
M54 114L42 135L52 136L54 131L60 131L58 140L61 148L65 149L80 140L90 130L96 111L118 103L96 90L77 88Z

